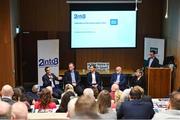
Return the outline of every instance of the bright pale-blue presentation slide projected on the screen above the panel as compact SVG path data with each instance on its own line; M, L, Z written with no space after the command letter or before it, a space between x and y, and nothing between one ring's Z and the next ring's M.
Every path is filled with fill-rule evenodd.
M71 11L71 48L136 47L136 11Z

